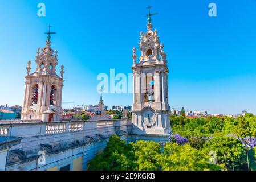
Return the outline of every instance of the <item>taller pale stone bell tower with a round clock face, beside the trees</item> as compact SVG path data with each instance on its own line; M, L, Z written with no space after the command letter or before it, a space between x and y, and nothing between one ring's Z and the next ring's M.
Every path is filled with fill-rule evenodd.
M155 14L149 11L147 33L140 33L139 63L136 63L136 48L133 48L132 133L136 140L166 142L170 140L171 133L168 101L169 70L164 45L160 44L157 30L152 29L152 15Z

